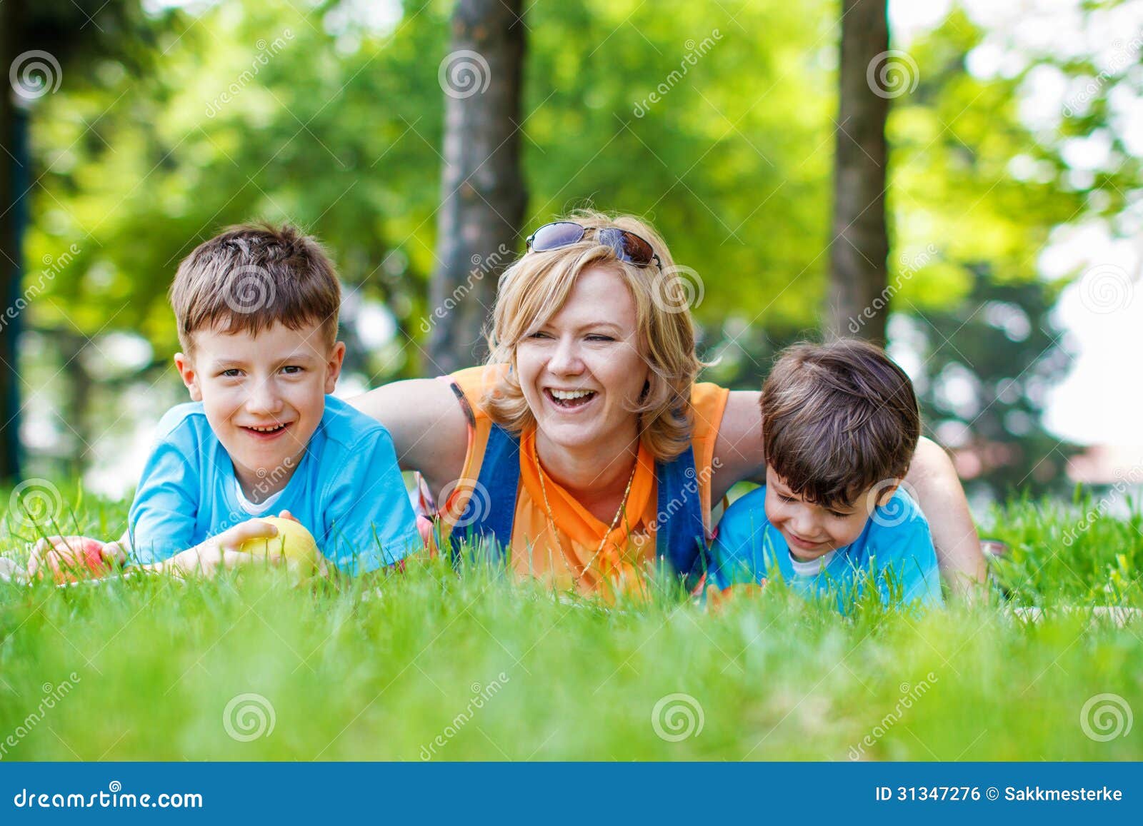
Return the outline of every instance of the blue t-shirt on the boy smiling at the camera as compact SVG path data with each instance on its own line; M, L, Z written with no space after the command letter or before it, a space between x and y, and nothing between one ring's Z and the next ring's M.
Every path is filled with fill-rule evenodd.
M245 502L230 455L201 402L171 408L128 514L131 562L169 559L240 522L289 511L349 572L375 570L423 547L393 440L382 425L326 396L305 452L279 495Z

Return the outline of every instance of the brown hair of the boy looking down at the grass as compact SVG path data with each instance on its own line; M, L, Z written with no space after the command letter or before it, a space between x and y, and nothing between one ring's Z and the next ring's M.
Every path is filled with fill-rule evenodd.
M761 406L766 464L825 507L852 506L879 482L904 478L921 433L909 376L857 339L784 350Z

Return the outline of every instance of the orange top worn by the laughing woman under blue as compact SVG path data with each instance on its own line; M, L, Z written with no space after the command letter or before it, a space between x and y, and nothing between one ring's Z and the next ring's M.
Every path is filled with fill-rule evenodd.
M439 511L431 510L426 491L422 490L425 512L437 513L442 518L442 538L448 536L449 526L464 513L480 475L480 464L493 425L480 400L504 369L504 366L473 367L442 377L459 388L470 409L466 411L470 414L469 449L461 479L451 487ZM692 447L708 537L711 531L711 463L728 396L728 390L705 383L695 384L690 395L694 407ZM640 443L638 467L631 482L628 504L615 530L610 532L608 524L599 521L546 473L542 489L538 468L536 432L535 428L529 428L520 438L520 490L515 499L511 543L511 564L515 572L521 577L545 579L561 590L574 587L589 593L598 591L604 580L612 580L613 584L618 582L621 588L640 582L638 576L632 576L636 568L655 559L653 526L658 491L655 460L650 451ZM544 504L544 490L547 491L551 519ZM557 534L554 537L553 524ZM597 556L601 542L604 548Z

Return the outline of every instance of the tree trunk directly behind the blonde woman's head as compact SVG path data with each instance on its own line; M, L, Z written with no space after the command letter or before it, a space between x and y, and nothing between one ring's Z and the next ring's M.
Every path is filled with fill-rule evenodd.
M481 328L517 249L527 193L520 174L521 0L457 0L451 51L440 64L445 167L429 332L433 369L481 361Z

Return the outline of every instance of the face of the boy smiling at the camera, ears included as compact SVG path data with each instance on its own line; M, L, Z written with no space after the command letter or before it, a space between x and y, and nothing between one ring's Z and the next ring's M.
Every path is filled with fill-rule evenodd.
M193 353L175 355L191 399L202 402L242 488L280 490L321 422L345 345L329 347L315 323L291 330L275 322L257 336L192 335Z

